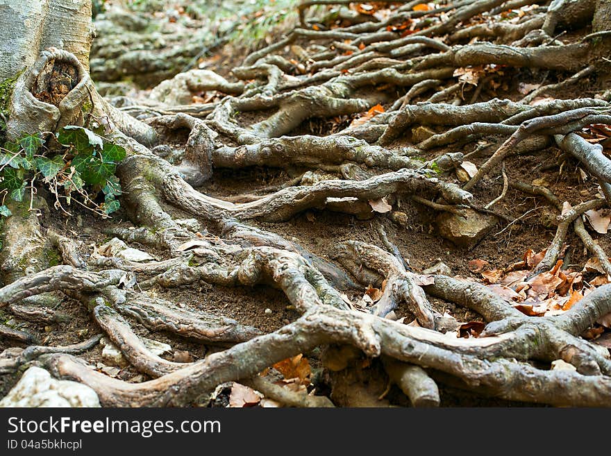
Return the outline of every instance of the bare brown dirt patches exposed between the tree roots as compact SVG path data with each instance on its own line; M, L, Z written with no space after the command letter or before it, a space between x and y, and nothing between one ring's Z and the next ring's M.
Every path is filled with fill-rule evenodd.
M321 42L321 44L326 45L327 43ZM233 65L240 62L244 57L232 53L231 47L222 47L217 52L220 53L220 58L212 56L211 60L215 63L210 68L217 70L219 74L224 74L225 76L229 74L228 69L231 69ZM532 73L530 70L516 71L511 76L508 75L509 83L505 90L501 88L494 96L499 99L517 101L524 96L517 91L517 81L520 83L537 83L539 79L540 74L536 71ZM597 81L595 78L586 79L583 83L571 87L571 93L567 94L567 98L589 96L592 92L599 90L600 84L601 81ZM142 96L146 94L146 91L140 92ZM384 107L390 108L390 103L385 103ZM270 112L266 111L242 113L240 124L242 126L254 124L265 119L269 114ZM349 116L344 119L311 119L292 131L290 135L327 135L333 131L333 128L337 128L337 124L345 126L353 118L355 116ZM179 141L181 139L177 137L176 142L181 142ZM498 138L499 144L503 139L501 137ZM406 141L405 137L401 137L391 144L389 148L399 149L405 145ZM231 145L231 141L228 138L224 138L224 142ZM469 153L472 150L473 147L471 146L470 149L461 151ZM478 166L485 159L485 157L477 155L469 158L469 160ZM505 170L510 181L518 180L530 184L534 178L539 179L539 181L544 180L546 187L558 196L561 202L568 201L571 205L588 201L594 198L597 193L596 181L594 179L584 181L580 178L578 168L579 164L576 160L562 155L559 149L555 147L528 155L514 155L505 160ZM232 196L257 194L260 189L264 193L264 189L267 187L280 186L295 176L299 176L304 171L307 170L299 168L274 169L269 167L251 167L238 171L219 169L218 171L215 170L215 174L206 185L198 189L204 194L218 199L231 200ZM385 170L379 171L383 172ZM340 177L339 174L337 176ZM453 171L445 174L443 178L446 182L460 184L460 180L458 180ZM477 187L471 190L474 194L473 203L480 207L485 205L501 193L502 187L503 179L501 176L496 174L487 176ZM45 196L44 189L40 190L40 194ZM45 197L49 207L52 207L53 199L51 195L47 194ZM415 203L410 199L401 201L400 205L396 207L405 213L407 220L405 223L397 223L392 219L390 213L375 214L371 219L359 220L352 215L331 212L329 210L307 210L285 223L265 223L262 221L249 221L249 223L294 241L303 246L307 251L329 262L334 262L335 246L340 242L358 240L380 245L380 235L378 235L377 230L377 225L380 224L387 233L387 238L399 248L399 252L413 271L421 273L421 271L431 267L433 264L443 262L449 267L453 276L469 278L476 282L482 282L483 279L479 273L474 273L469 269L468 262L470 260L485 260L489 263L491 269L508 267L508 265L520 261L528 249L539 252L548 247L555 235L556 229L553 224L549 223L550 217L554 216L555 210L550 207L545 199L527 196L511 188L508 189L502 201L494 205L494 211L501 216L499 223L476 245L469 248L456 246L452 242L440 237L437 231L437 223L435 222L438 212ZM181 213L175 208L167 208L167 210L176 218L192 217L189 214ZM72 237L78 243L79 253L81 253L85 260L92 254L96 246L110 239L111 236L108 235L108 229L116 228L117 226L124 226L126 228L133 226L133 223L128 221L126 212L123 209L112 214L111 219L100 219L97 215L84 210L75 210L74 212L76 217L65 217L55 210L44 212L40 222L43 228L53 227L60 234ZM209 233L211 235L219 235L219 233L215 233L212 229L210 229ZM611 252L611 239L608 235L591 234L605 251ZM567 244L567 247L561 255L561 258L564 260L563 268L567 269L567 271L581 271L591 255L585 251L583 244L581 244L578 237L572 231L569 233L565 244ZM130 246L148 251L156 257L156 260L169 258L167 253L151 251L149 246L143 246L135 242L131 243ZM584 278L588 280L590 276L585 274ZM356 301L362 296L365 289L344 289L340 290L340 292L346 293L349 298ZM266 333L277 330L299 317L299 312L292 308L283 292L264 285L231 288L201 282L199 287L195 289L193 287L185 289L156 287L147 293L149 296L167 298L169 301L178 303L178 305L188 310L202 310L219 316L230 317L244 325L254 326ZM65 298L62 294L61 296L62 311L72 316L72 319L66 323L56 323L49 326L42 323L22 321L10 314L6 308L0 309L0 321L7 323L13 328L27 330L40 339L42 344L53 346L74 344L86 337L102 332L96 323L92 321L90 314L81 303ZM478 314L451 303L436 298L431 298L431 303L437 312L441 314L448 312L458 321L482 320ZM415 319L415 315L410 312L407 305L399 305L394 312L397 319L404 318L406 323ZM171 335L169 332L151 332L134 319L128 318L128 322L138 336L170 344L173 353L187 351L192 360L202 359L209 353L225 348L222 345L204 345L198 341L185 340L184 338ZM24 344L0 338L0 352L12 346L25 347ZM310 360L310 365L315 373L321 370L318 350L312 351L312 353L305 353L304 355ZM162 355L167 360L174 360L173 356L172 354ZM87 351L81 357L90 364L97 365L98 369L104 367L101 357L101 346L99 345ZM374 362L369 369L379 369L379 366ZM0 398L15 384L19 375L20 372L13 375L0 376ZM114 375L129 382L142 382L149 379L147 375L137 372L132 366L121 368ZM317 392L324 392L327 387L324 378L321 378L315 387ZM313 386L310 387L310 389L312 388ZM193 405L224 407L227 404L230 389L231 387L225 386L219 390L219 394L214 399L202 399L195 401ZM496 398L486 399L453 387L444 386L440 392L442 406L532 406L532 404ZM392 387L390 391L387 391L386 398L396 403L396 405L408 405L405 396L396 387Z

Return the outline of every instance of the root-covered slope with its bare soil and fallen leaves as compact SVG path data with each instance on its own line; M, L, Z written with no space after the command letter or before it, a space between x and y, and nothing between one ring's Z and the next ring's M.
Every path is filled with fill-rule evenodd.
M294 12L131 98L82 52L15 71L6 140L126 157L111 218L32 179L3 219L0 396L38 366L103 406L610 406L610 4Z

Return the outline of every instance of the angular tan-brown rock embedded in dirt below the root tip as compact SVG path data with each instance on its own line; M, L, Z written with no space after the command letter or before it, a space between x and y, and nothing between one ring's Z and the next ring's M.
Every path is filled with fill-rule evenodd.
M498 223L499 219L490 214L480 214L472 209L462 210L466 217L450 212L437 216L437 230L445 239L462 247L472 247Z

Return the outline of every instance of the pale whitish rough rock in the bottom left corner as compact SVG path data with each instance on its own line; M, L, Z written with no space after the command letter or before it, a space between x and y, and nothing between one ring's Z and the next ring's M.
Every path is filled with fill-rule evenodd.
M55 380L49 372L33 366L0 400L0 407L100 407L100 401L87 385Z

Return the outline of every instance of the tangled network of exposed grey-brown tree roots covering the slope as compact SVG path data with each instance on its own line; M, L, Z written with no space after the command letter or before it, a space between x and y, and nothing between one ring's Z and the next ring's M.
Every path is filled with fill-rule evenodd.
M597 29L574 43L558 42L554 37L564 24L558 13L563 2L530 11L517 24L464 26L483 12L503 12L508 6L501 0L464 1L430 12L412 10L419 2L405 2L381 22L371 19L311 30L305 11L318 3L346 2L304 2L299 8L301 27L248 56L233 71L237 82L210 71L187 71L156 87L144 107L112 107L97 94L84 67L65 51L45 51L19 78L9 124L9 133L15 137L31 127L32 119L36 129L44 131L83 124L87 121L81 114L85 102L93 104L92 119L108 121L112 127L108 135L128 151L118 174L124 188L122 202L138 225L113 228L112 235L163 251L165 260L140 263L98 256L85 261L69 237L49 230L46 239L35 217L13 216L7 224L15 223L22 236L5 239L4 248L12 257L3 259L7 285L0 288L0 306L8 306L21 319L58 321L65 315L45 305L42 298L36 301L35 296L57 299L57 292L62 292L75 298L128 362L152 380L128 383L110 378L75 356L97 344L100 336L73 346L11 348L0 358L0 373L35 362L58 378L89 385L108 406L190 405L232 380L287 405L328 406L332 404L324 396L287 391L258 375L276 362L324 346L321 360L330 371L335 390L332 398L338 403L350 405L356 396L361 404L376 403L362 385L353 391L346 388L354 379L360 382L355 360L368 357L380 358L387 381L417 406L440 404L437 382L509 400L611 405L609 353L580 337L594 321L611 312L611 285L599 287L563 314L531 317L485 285L442 274L419 276L381 226L378 232L385 248L349 240L336 246L335 262L256 226L265 222L269 227L269 223L287 221L310 209L344 212L360 219L383 217L371 208L377 204L378 208L394 205L396 209L401 201L409 200L456 216L467 211L495 214L490 207L512 187L543 196L562 211L557 234L533 273L553 267L572 227L610 274L608 257L581 219L585 211L611 201L610 162L601 146L574 133L591 124L611 124L610 94L530 105L535 96L558 94L582 78L608 72L608 62L600 58L601 48L611 49L608 31ZM592 2L569 2L566 8L573 11L573 3ZM582 8L579 15L588 16L590 22L594 15L594 23L599 24L596 18L605 14L604 7ZM438 20L440 12L448 19ZM394 27L403 22L415 22L415 33L400 37ZM458 24L463 27L457 31ZM489 42L466 44L473 38ZM299 47L303 68L276 55L303 40L330 47L319 53ZM78 84L57 105L50 105L31 92L44 69L58 61L74 67ZM539 87L521 101L509 101L489 96L491 73L465 98L464 84L457 83L453 75L456 69L476 65L545 69L572 76ZM303 71L311 74L301 75ZM246 83L249 80L253 81ZM217 90L226 96L219 103L184 105L201 90ZM308 119L355 115L377 103L389 109L360 126L328 135L289 135ZM35 115L26 119L26 109ZM249 126L240 121L240 113L261 110L266 110L265 119ZM138 121L126 112L149 118ZM424 127L429 129L426 137L418 133ZM165 138L185 130L184 149L170 160ZM498 137L503 138L498 144L491 139ZM401 138L407 138L408 144ZM505 186L498 199L485 206L475 201L471 192L483 176L498 172L503 160L551 144L579 160L599 180L605 199L592 199L566 211L548 189L507 182L504 175ZM469 155L488 152L489 158L463 187L448 182L448 171L460 166L469 149ZM269 187L266 194L244 194L232 201L194 188L206 185L215 169L252 166L306 171L285 185ZM334 173L335 178L308 182L308 170ZM176 210L196 219L178 219L171 215ZM391 212L391 217L398 220L399 212ZM23 239L28 239L25 246ZM21 260L43 257L49 243L60 251L63 265L24 267ZM301 316L265 334L147 293L156 288L196 287L201 282L276 287ZM343 292L366 285L377 285L383 291L376 305L362 312ZM443 325L449 318L435 310L430 296L477 312L487 322L484 332L469 339L444 335ZM418 326L384 318L401 303L415 315ZM231 347L196 362L170 362L147 348L130 319L151 331ZM26 332L4 326L0 326L0 335L25 344L38 343ZM575 371L540 369L555 360L572 364Z

